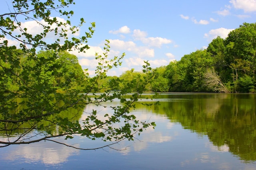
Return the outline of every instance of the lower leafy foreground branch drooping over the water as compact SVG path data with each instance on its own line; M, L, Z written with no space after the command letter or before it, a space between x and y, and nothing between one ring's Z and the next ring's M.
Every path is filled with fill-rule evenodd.
M105 50L108 51L108 43L106 43L106 46ZM98 81L106 77L107 70L120 65L120 59L123 57L106 61L107 54L107 52L104 53L103 57L96 56L99 60L99 66L96 69L97 74L84 84L86 93L79 94L76 90L68 89L68 93L65 94L55 92L52 102L48 99L52 93L48 94L48 96L41 94L40 98L37 96L38 94L34 95L34 93L30 94L30 96L18 96L16 99L22 100L20 103L17 103L16 100L9 101L12 106L16 104L17 109L13 110L13 107L6 107L8 113L2 114L0 131L5 134L8 141L0 141L3 144L1 147L43 140L54 141L52 138L60 136L66 136L66 139L68 139L73 138L73 135L86 136L92 140L101 138L103 141L113 141L113 143L104 146L110 147L110 145L124 139L134 140L135 133L140 133L149 126L154 127L154 122L139 121L135 115L130 114L130 109L135 109L135 103L138 102L143 90L154 76L149 63L145 62L146 65L144 66L142 77L141 75L134 77L123 88L119 88L120 79L112 79L108 82L108 88L106 88L105 92L97 94ZM127 98L126 95L132 92L131 87L136 87L137 92L133 92L130 98ZM98 111L93 110L88 113L86 119L82 121L77 119L82 114L84 106L96 104L97 106L107 107L104 106L105 102L112 102L116 99L120 101L120 105L110 106L113 110L112 113L106 113L104 116L99 117ZM68 102L70 102L69 105ZM71 117L63 116L64 111L70 108L80 111L71 113ZM14 132L19 132L19 135L13 137ZM58 141L56 142L58 143Z

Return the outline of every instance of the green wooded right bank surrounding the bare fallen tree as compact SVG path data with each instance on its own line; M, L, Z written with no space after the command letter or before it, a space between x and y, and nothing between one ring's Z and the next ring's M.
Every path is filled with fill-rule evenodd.
M256 23L166 66L170 92L255 92ZM207 87L207 88L206 88Z

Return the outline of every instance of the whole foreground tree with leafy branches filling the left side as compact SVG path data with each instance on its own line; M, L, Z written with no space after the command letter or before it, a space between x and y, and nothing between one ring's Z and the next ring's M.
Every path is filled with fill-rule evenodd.
M91 23L84 36L70 38L70 33L74 35L85 23L81 18L78 26L71 25L69 18L73 11L65 10L71 4L74 4L73 0L14 0L13 11L0 15L0 133L7 139L0 141L0 147L42 140L57 142L54 141L55 137L65 136L69 139L76 134L93 140L113 141L102 146L110 147L124 139L133 140L134 133L155 126L154 122L141 122L129 114L154 76L148 62L145 62L143 70L146 74L129 82L129 85L136 86L136 92L127 99L125 95L131 91L130 86L126 84L120 88L119 78L108 81L104 93L96 94L99 91L98 82L106 78L108 70L120 66L124 57L124 54L112 59L108 57L109 41L106 41L105 53L96 54L98 66L94 78L82 74L76 57L66 52L85 52L89 48L88 38L92 37L95 27L95 23ZM52 11L67 20L52 17ZM43 31L36 35L30 33L29 28L19 21L22 17L26 21L34 21ZM16 34L16 31L19 33ZM57 37L54 42L44 41L52 33ZM10 38L20 43L19 50L9 45ZM36 51L40 52L37 54ZM9 79L18 88L12 90L8 86ZM63 93L58 92L60 87L64 89ZM67 109L83 109L87 104L103 105L114 99L118 99L121 105L113 106L113 113L106 113L103 120L97 117L96 110L92 110L82 123L72 119L80 112L68 117L61 116ZM120 126L113 126L116 123L120 123ZM19 133L14 135L17 131Z

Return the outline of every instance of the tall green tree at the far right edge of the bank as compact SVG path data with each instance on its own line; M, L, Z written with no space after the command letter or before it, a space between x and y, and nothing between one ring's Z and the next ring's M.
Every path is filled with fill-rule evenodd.
M255 82L256 69L256 23L243 23L231 31L224 41L226 46L226 63L232 71L234 91L239 87L239 78L244 74L252 77ZM255 86L254 86L255 88ZM252 88L252 89L254 89ZM242 90L243 91L243 90Z

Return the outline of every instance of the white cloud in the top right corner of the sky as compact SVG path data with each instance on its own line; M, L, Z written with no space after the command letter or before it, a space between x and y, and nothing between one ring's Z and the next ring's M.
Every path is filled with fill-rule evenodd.
M230 0L234 8L244 10L244 12L256 12L256 0Z

